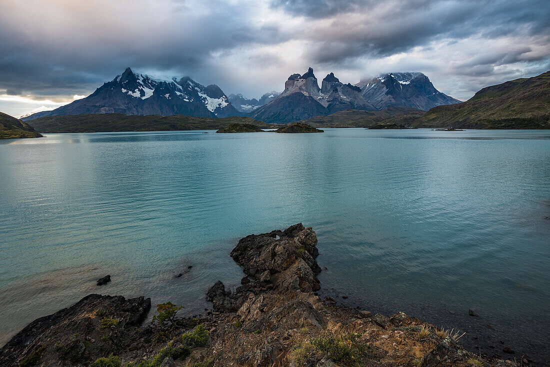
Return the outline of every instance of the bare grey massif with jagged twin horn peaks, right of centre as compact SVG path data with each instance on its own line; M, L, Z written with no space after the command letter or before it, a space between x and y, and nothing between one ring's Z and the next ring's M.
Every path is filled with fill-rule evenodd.
M346 109L377 111L388 107L427 110L433 106L458 103L435 89L422 73L394 73L361 81L342 83L330 73L319 87L313 69L290 75L281 95L249 116L270 123L286 123L327 116Z

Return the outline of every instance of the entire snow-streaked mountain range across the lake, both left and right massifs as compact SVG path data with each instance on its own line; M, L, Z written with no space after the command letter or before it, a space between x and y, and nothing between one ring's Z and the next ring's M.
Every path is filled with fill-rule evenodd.
M268 123L287 123L350 108L377 111L400 106L427 110L458 102L437 91L422 73L384 74L356 85L344 84L329 73L319 87L313 69L309 68L305 74L290 75L282 93L272 91L259 99L248 99L241 94L228 97L217 85L204 86L188 76L157 79L127 68L85 98L21 119L124 113L211 118L249 116Z

